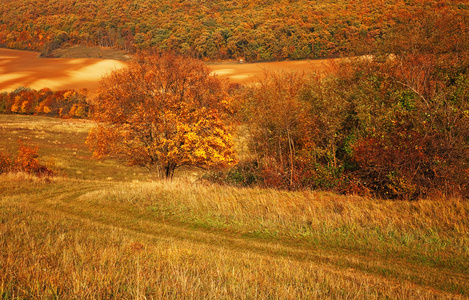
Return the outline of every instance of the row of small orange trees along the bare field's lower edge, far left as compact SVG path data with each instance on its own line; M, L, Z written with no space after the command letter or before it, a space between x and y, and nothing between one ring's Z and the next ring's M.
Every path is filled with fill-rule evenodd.
M0 93L0 113L87 118L90 107L86 90L54 92L49 88L37 91L20 87L11 93Z

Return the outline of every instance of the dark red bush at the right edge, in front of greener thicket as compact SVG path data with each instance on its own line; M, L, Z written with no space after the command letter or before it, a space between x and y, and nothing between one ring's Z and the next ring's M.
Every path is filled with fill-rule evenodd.
M402 124L401 124L402 125ZM353 147L353 177L387 198L417 199L439 192L467 194L464 142L438 130L396 125Z

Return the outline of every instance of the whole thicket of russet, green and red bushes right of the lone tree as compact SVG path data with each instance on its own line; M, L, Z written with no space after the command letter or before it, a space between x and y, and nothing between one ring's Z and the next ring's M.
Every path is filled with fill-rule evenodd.
M218 180L386 198L469 196L469 59L358 59L239 97L249 158Z

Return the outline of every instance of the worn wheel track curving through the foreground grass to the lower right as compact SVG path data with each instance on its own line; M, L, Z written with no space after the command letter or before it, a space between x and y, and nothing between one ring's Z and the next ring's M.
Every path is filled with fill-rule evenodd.
M324 249L304 242L294 244L292 241L243 237L234 232L194 228L190 224L149 219L148 215L129 210L100 211L95 208L79 206L78 202L73 201L80 195L97 188L99 189L97 186L90 185L78 192L76 189L64 188L63 191L55 191L35 198L34 201L30 202L31 208L44 213L73 218L95 226L118 229L132 235L184 240L217 249L251 252L264 257L314 263L330 272L350 274L351 278L353 274L361 274L362 276L372 276L373 280L389 281L395 285L406 282L418 285L423 289L435 288L449 292L448 297L456 296L459 293L466 295L468 293L469 276L467 274L442 272L441 269L412 264L403 259L385 258L373 254L365 256L346 252L343 249Z

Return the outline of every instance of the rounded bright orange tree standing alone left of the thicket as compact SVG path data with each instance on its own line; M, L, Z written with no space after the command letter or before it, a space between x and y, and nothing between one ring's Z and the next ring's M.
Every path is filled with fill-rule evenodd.
M101 82L88 143L96 157L112 156L171 178L181 166L234 162L222 116L224 83L194 59L139 55Z

